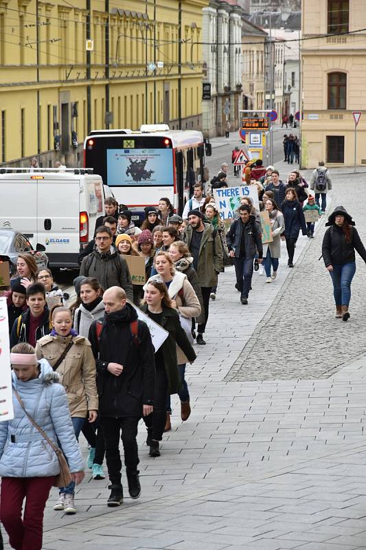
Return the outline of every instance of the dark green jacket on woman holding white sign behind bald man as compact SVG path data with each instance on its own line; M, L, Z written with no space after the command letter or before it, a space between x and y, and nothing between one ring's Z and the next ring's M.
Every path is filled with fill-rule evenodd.
M144 313L148 314L147 305L144 305L141 309ZM196 359L196 352L181 327L179 315L175 309L163 307L161 327L169 333L168 338L161 346L161 351L163 351L165 373L168 378L168 393L172 395L181 390L181 378L176 359L176 344L181 348L188 361L193 362Z

